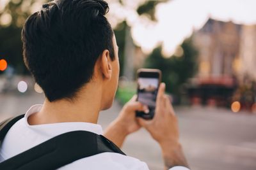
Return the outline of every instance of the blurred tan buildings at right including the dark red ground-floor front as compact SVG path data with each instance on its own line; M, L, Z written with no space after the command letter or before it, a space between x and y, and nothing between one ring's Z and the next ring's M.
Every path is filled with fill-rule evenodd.
M227 106L244 78L256 80L256 25L211 18L193 35L198 74L189 85L192 103Z

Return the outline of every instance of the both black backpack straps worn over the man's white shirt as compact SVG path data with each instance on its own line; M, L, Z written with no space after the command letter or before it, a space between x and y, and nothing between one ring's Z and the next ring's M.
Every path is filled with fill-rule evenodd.
M24 115L0 123L0 145L9 129ZM102 135L88 131L72 131L55 136L40 145L0 163L0 169L58 169L76 160L104 152L125 155L118 146Z

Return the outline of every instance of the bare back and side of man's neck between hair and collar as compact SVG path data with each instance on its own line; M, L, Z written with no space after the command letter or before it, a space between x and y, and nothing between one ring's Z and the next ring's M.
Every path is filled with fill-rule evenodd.
M74 102L65 99L49 102L46 99L42 109L28 118L29 124L54 124L60 122L89 122L97 124L101 108L101 89L95 86L83 89L86 89L87 92L79 92L80 96Z

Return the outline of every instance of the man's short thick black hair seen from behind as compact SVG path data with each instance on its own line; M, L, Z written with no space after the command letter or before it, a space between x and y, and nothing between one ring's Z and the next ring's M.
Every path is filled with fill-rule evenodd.
M74 99L104 50L115 59L108 10L101 0L57 0L26 20L24 62L49 101Z

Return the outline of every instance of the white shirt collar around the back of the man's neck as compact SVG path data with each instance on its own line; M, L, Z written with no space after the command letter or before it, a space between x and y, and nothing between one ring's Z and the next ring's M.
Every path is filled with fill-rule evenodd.
M58 135L71 131L89 131L95 134L103 133L101 125L87 122L61 122L56 124L29 125L28 117L33 113L40 111L42 106L42 104L35 104L31 106L31 108L29 108L29 110L26 112L25 123L29 128L38 131L49 131L52 135Z

